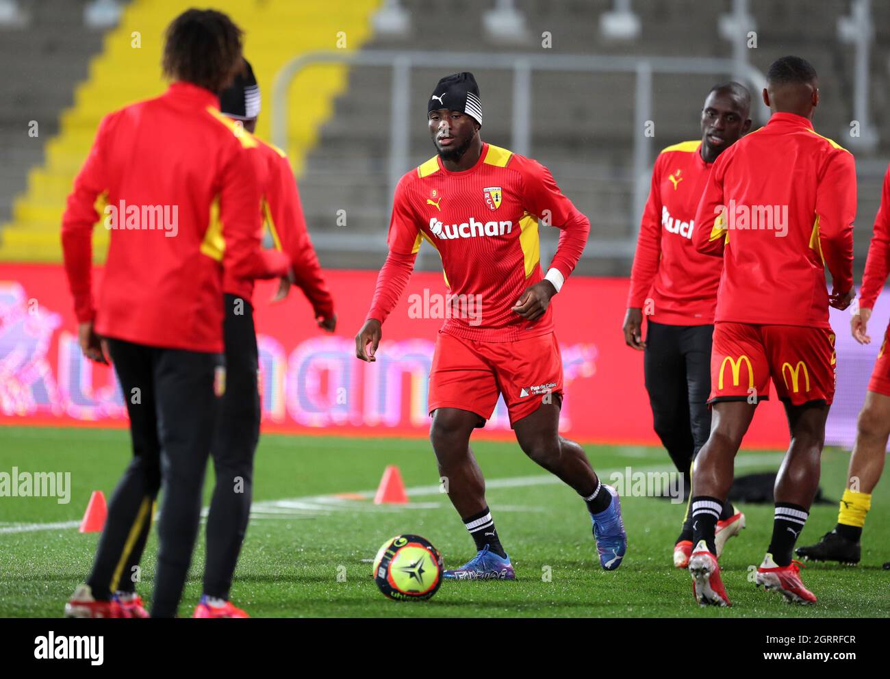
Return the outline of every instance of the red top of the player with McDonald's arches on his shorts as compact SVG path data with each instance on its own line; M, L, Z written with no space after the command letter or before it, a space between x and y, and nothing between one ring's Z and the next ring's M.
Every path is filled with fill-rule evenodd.
M853 155L809 119L773 113L708 174L692 241L723 255L715 320L829 327L825 268L853 287Z

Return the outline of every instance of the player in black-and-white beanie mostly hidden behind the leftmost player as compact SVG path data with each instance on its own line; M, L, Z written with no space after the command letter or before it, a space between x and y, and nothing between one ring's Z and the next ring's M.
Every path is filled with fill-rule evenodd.
M319 327L333 332L336 327L334 301L306 230L290 163L284 151L253 135L260 99L254 70L245 60L244 69L220 93L220 110L241 125L239 133L249 135L256 142L256 150L262 157L263 221L275 249L284 251L291 263L288 276L280 279L279 292L273 300L287 296L294 282L312 303ZM248 617L246 611L229 601L229 591L250 519L254 454L262 417L253 293L252 279L239 279L231 271L224 271L226 388L210 449L215 485L207 514L204 592L195 608L195 618ZM127 562L126 573L134 572L134 566L141 561L149 532L150 521L147 521ZM129 603L134 598L138 598L135 584L132 578L124 578L118 586L117 600L125 611L138 612L138 608Z

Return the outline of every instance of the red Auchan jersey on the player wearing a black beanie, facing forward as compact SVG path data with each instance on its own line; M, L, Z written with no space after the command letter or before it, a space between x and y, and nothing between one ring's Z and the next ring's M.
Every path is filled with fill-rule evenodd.
M426 240L441 256L455 310L444 332L488 342L552 332L552 307L535 321L511 311L525 288L544 278L538 219L562 230L550 268L567 279L587 243L590 222L546 167L490 144L483 144L479 161L464 172L449 172L438 156L431 158L396 188L390 256L368 318L382 322L392 311L407 282L407 275L397 279L392 273L393 264L413 261ZM461 312L466 310L473 313Z

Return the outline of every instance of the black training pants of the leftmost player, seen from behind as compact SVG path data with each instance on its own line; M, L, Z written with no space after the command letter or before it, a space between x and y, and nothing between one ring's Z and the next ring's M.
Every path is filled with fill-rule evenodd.
M158 489L158 569L151 615L176 613L198 535L201 489L214 432L216 353L161 349L109 339L109 353L130 416L133 461L109 502L108 519L87 579L97 598L122 584L133 588L128 568L142 554Z

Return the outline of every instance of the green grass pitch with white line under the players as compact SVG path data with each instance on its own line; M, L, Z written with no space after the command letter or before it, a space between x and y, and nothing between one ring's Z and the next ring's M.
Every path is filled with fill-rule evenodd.
M772 506L745 505L748 529L733 538L721 560L729 610L700 609L690 578L671 565L671 548L684 505L652 497L622 497L627 557L614 572L595 560L590 520L575 493L534 465L515 443L481 441L473 449L486 479L498 532L514 562L515 582L450 582L429 602L391 602L369 577L370 559L386 538L417 533L431 540L453 567L473 554L457 514L439 483L425 440L349 439L265 435L256 456L255 514L232 601L255 617L886 617L890 611L890 484L878 485L857 567L808 564L803 578L819 597L791 606L749 582L772 530ZM609 473L669 469L654 448L586 447L596 469ZM0 497L0 617L57 617L85 578L95 534L71 523L81 518L94 489L109 496L129 457L125 431L0 429L0 472L70 472L67 505L54 497ZM740 453L737 473L776 469L778 452ZM837 499L848 454L829 449L821 487ZM401 468L411 505L376 506L369 499L335 497L373 490L385 465ZM213 474L208 474L205 501ZM422 488L425 487L425 488ZM206 504L206 502L205 502ZM798 544L810 544L834 525L837 505L818 505ZM58 524L47 528L44 524ZM33 524L33 525L26 525ZM180 607L189 616L201 590L203 530ZM151 594L157 538L143 560L145 598ZM550 578L545 577L549 572Z

